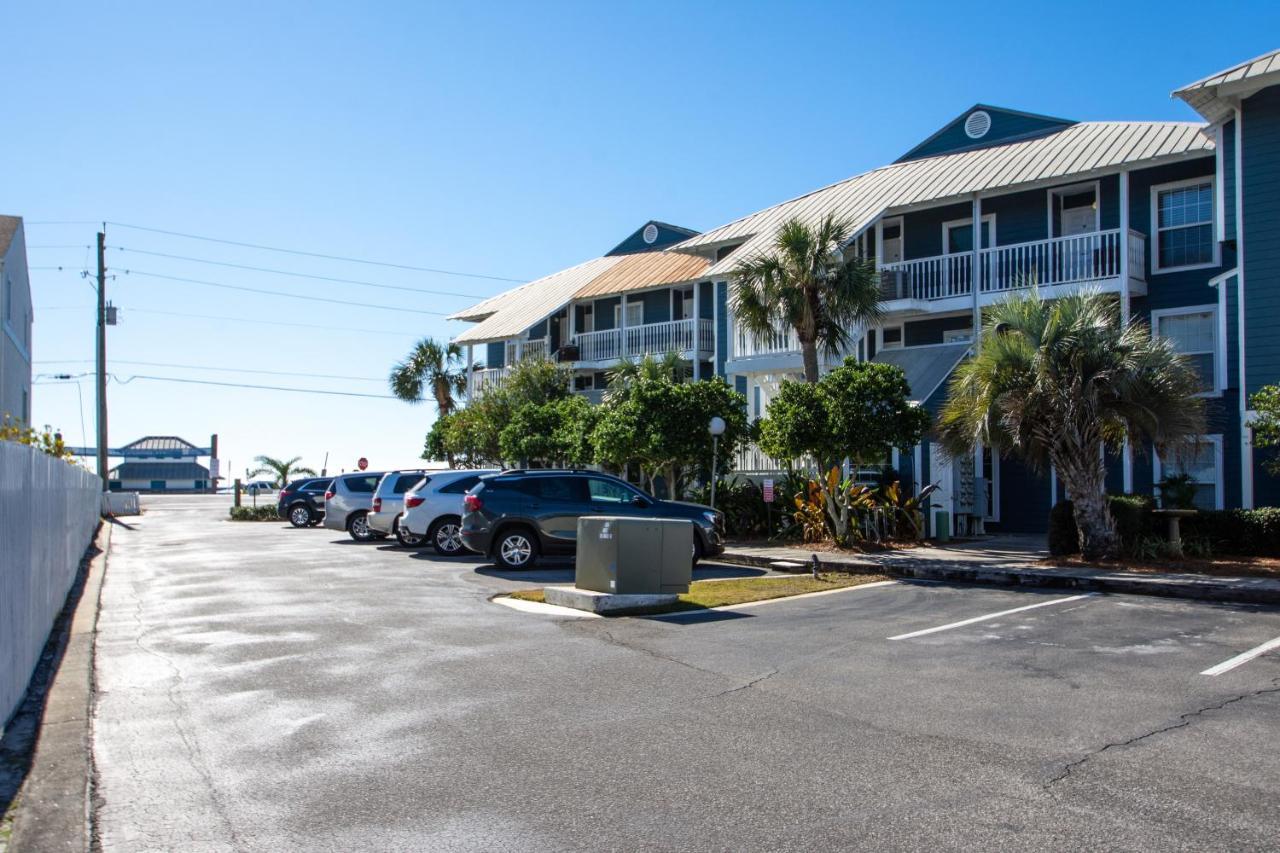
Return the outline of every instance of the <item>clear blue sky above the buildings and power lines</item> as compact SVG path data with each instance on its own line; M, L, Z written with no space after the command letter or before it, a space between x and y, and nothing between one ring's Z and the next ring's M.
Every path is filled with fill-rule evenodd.
M1274 3L1230 13L1189 3L52 5L5 9L0 119L0 213L29 223L40 374L92 370L93 293L78 270L96 228L52 223L527 279L594 257L650 218L713 228L882 165L977 101L1085 120L1193 119L1172 88L1274 49L1280 33ZM122 380L383 394L417 337L458 330L430 313L509 287L116 225L108 243L120 247L108 252L108 289L120 306L109 359ZM90 378L81 389L91 438ZM361 455L411 465L433 416L393 400L151 379L113 383L110 403L113 444L154 433L205 443L216 432L241 474L257 453L319 467L328 452L332 470ZM38 386L33 419L78 443L76 384Z

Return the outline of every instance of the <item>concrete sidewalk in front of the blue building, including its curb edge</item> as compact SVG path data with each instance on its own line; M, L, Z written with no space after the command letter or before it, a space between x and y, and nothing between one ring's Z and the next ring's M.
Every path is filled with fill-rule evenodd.
M1267 578L1216 578L1078 566L1062 569L1039 566L1036 565L1037 561L1048 556L1039 537L989 537L957 540L946 546L931 544L922 548L881 553L810 552L787 546L731 543L719 560L773 570L787 570L786 566L778 564L797 564L790 570L805 571L813 553L818 555L823 570L861 569L918 580L1084 589L1249 605L1280 605L1280 580Z

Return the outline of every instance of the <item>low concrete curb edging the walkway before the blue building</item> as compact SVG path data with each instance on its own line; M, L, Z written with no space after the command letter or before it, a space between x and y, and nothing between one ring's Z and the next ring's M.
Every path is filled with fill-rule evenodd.
M758 555L726 551L722 562L769 569L776 560ZM799 561L797 561L799 562ZM1280 605L1280 580L1267 578L1212 578L1206 575L1156 575L1101 569L1002 569L964 566L942 561L831 560L818 555L823 571L877 571L892 578L936 580L997 587L1037 587L1043 589L1079 589L1085 592L1126 593L1132 596L1164 596L1238 605Z

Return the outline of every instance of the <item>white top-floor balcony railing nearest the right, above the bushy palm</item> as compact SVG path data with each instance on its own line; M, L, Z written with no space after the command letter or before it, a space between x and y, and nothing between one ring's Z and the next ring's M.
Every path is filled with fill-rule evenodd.
M1129 232L1129 275L1146 280L1147 238ZM941 255L881 266L884 300L942 300L973 293L973 254ZM979 252L978 289L1000 293L1023 287L1083 284L1120 277L1120 231L1098 231Z

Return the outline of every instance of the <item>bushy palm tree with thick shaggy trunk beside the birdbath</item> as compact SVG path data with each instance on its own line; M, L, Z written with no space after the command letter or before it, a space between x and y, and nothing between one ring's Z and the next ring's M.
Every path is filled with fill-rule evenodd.
M1034 288L988 309L978 352L956 369L938 432L951 453L977 443L1066 485L1088 560L1115 556L1103 494L1103 450L1125 438L1180 451L1204 432L1196 369L1144 323L1120 323L1119 304L1094 289L1048 301Z

